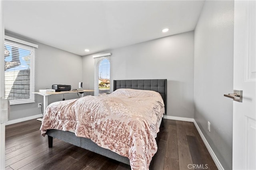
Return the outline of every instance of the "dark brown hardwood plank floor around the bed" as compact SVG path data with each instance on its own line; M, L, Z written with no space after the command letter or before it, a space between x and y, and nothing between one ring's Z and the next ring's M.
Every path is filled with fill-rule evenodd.
M94 152L47 137L41 122L24 121L6 126L6 170L128 170L130 166ZM208 169L217 167L192 122L164 119L158 151L150 170ZM196 166L197 165L197 166Z

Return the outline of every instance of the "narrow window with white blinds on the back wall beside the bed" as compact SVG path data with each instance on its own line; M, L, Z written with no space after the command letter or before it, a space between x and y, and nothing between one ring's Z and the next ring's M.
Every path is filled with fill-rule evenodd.
M94 55L94 96L110 94L110 55Z

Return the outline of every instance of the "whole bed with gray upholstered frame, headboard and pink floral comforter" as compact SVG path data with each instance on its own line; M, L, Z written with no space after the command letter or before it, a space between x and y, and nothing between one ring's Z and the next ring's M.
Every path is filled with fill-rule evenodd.
M132 90L132 89L136 89L136 90ZM146 93L146 97L149 97L149 98L146 98L145 100L144 99L139 100L139 99L133 98L134 96L127 97L127 95L126 95L126 94L128 94L128 95L135 94L137 96L141 96L141 94L142 94L141 91L143 91L143 95L144 95L144 93ZM167 98L166 91L167 91L167 80L166 79L114 80L113 93L111 95L107 96L107 98L108 98L107 100L102 99L101 104L108 103L108 107L117 108L117 109L115 109L116 115L118 115L119 118L121 117L120 119L122 120L122 122L112 121L112 120L110 121L110 119L107 119L108 114L106 114L106 116L105 116L105 117L107 117L105 119L106 121L103 123L99 123L98 117L102 116L102 114L94 116L91 113L91 110L93 110L94 107L99 108L98 105L97 105L97 107L96 107L96 105L94 105L94 106L90 105L91 108L88 109L89 107L84 106L84 104L83 104L81 107L87 108L87 111L83 111L83 114L81 114L81 115L70 116L70 115L64 114L62 116L57 116L60 119L56 119L56 120L50 119L49 118L50 116L46 115L42 121L42 126L41 126L42 135L48 135L49 147L52 147L52 145L53 145L53 138L57 138L62 141L71 143L72 145L76 145L78 147L82 147L82 148L90 150L92 152L96 152L103 156L107 156L107 157L117 160L119 162L123 162L125 164L130 164L130 166L133 170L148 169L150 161L152 159L152 156L154 155L154 153L156 152L156 149L157 149L156 140L152 139L152 136L154 135L154 138L156 137L156 133L159 131L159 125L160 125L161 121L157 121L157 123L156 123L156 120L161 120L163 117L163 113L166 113L166 98ZM158 93L156 93L156 92L158 92ZM124 122L126 120L122 118L122 115L118 114L118 111L120 111L120 108L128 108L128 107L124 107L124 106L114 107L113 105L117 105L115 102L108 102L108 101L112 101L112 100L113 101L121 100L121 99L119 99L120 98L119 95L121 95L121 98L124 98L124 103L122 103L123 105L126 105L127 103L129 103L130 98L132 98L132 100L133 99L136 100L135 102L132 101L132 102L134 102L133 105L142 104L143 106L145 104L143 102L144 101L146 102L147 99L148 99L148 102L151 102L151 101L155 100L155 98L156 98L157 106L154 106L154 111L157 111L162 114L161 117L159 117L159 115L156 115L156 116L152 116L152 118L150 118L150 120L148 119L145 121L145 122L153 121L155 124L151 123L149 126L149 125L146 125L145 123L144 123L145 125L142 123L143 128L146 127L146 129L147 129L146 133L142 132L143 135L137 135L138 133L141 133L141 131L142 131L139 128L138 128L139 129L138 133L137 132L135 133L134 132L135 130L133 131L133 129L132 130L128 129L128 131L122 130L122 128L112 129L112 134L110 134L112 139L116 139L117 135L115 135L115 133L116 133L116 131L118 131L118 134L122 134L122 138L129 141L129 142L122 141L122 143L124 145L116 142L115 140L112 141L109 138L106 138L106 136L105 136L106 135L105 133L107 133L107 132L105 132L106 129L111 129L109 127L106 127L106 125L114 125L115 127L116 126L117 127L124 126L123 129L126 129L126 125L128 125L129 123L131 124L130 127L136 127L136 128L137 128L137 126L140 126L141 124L138 123L138 121L136 121L136 123L133 123L133 124L131 122L135 122L135 121ZM142 95L142 97L143 97L143 95ZM150 98L151 95L154 96L154 98ZM157 95L160 96L165 107L162 107L163 104L161 105L160 99ZM95 98L94 96L86 96L80 100L87 100L87 101L90 101L90 103L95 103L94 98ZM76 102L76 103L81 102L80 100L70 100L70 101L59 102L58 109L62 109L65 112L65 110L67 108L73 107L74 102ZM82 102L84 102L84 101L82 101ZM156 102L154 102L154 103L156 103ZM57 103L57 102L55 102L55 103ZM69 104L71 103L71 104L66 105L67 103L69 103ZM55 104L55 105L57 105L57 104ZM64 106L64 107L62 107L62 106ZM150 105L150 106L152 106L152 105ZM51 105L49 105L48 108L46 109L46 112L48 110L48 112L50 114L56 115L56 112L58 112L58 111L56 111L57 110L56 108L55 107L51 108ZM74 108L76 110L83 109L83 108L80 108L80 105L76 106ZM105 108L105 107L102 106L102 108ZM87 115L90 115L90 118L85 118L84 112L87 112L88 113ZM124 113L129 112L130 113L130 110L122 111L122 109L121 109L121 112L124 112ZM133 110L133 112L134 112L134 110ZM149 112L151 113L152 111L149 110ZM102 113L107 113L107 111L102 111ZM118 116L116 119L118 119ZM142 116L142 115L140 115L140 116ZM71 117L70 120L72 120L72 121L65 122L65 121L61 120L61 119L66 119L66 117ZM94 120L96 120L95 117L97 117L97 121L95 121L96 122L95 125L93 125L93 127L87 127L88 121L93 122ZM73 122L74 119L77 119L80 121ZM89 119L89 120L85 121L84 119ZM137 119L138 119L138 117L136 117L136 120ZM127 120L130 120L130 118ZM54 128L52 128L53 126L49 125L51 121L56 123L56 126L54 126ZM68 124L69 128L66 128L66 129L63 127L59 128L63 124ZM158 127L155 127L154 125L157 125ZM136 129L136 128L134 128L134 129ZM60 130L57 130L57 129L60 129ZM80 129L81 131L75 131L75 133L74 133L74 129L76 129L76 130ZM105 129L105 131L104 131L104 129ZM102 131L104 131L104 132L102 132ZM134 133L134 134L132 134L132 133ZM126 135L126 134L129 134L129 135ZM109 135L109 133L108 133L108 135ZM131 136L132 136L132 138L131 138ZM146 137L144 137L144 136L146 136ZM104 140L102 140L102 138L104 138ZM136 138L136 140L135 140L135 138ZM143 139L141 139L141 138L143 138ZM137 141L137 139L139 142ZM144 146L144 143L147 143L147 145ZM155 145L153 145L153 144L155 144ZM129 146L128 149L126 149L127 146ZM141 147L138 147L138 146L141 146ZM137 153L140 153L141 150L143 150L143 151L146 150L144 153L145 157L141 156L140 154L137 154Z

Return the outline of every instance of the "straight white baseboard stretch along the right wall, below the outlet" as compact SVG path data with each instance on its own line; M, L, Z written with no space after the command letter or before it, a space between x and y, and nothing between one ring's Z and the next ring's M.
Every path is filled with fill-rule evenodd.
M215 153L213 152L212 148L210 147L209 143L207 142L207 140L205 139L202 131L200 130L199 126L197 125L196 121L194 120L194 125L196 126L196 129L200 135L200 137L202 138L204 145L206 146L207 150L209 151L210 155L212 156L213 161L215 162L218 170L224 170L224 168L222 167L222 165L220 164L220 161L218 160L217 156L215 155Z

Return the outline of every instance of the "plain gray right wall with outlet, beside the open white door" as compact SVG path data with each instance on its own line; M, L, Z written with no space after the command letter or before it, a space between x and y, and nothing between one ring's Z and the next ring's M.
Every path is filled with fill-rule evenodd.
M224 169L232 169L234 1L204 3L195 29L194 119ZM207 121L211 132L207 131Z

